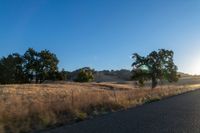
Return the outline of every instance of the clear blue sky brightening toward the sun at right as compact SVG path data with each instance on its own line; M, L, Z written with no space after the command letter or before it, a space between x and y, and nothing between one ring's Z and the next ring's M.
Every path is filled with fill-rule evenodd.
M131 69L132 53L166 48L179 71L200 74L200 1L0 0L0 56L28 47L66 70Z

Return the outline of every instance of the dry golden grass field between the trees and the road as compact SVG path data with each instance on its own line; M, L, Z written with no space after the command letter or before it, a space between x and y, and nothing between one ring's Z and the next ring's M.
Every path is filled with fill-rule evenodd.
M51 83L0 86L0 132L18 133L81 121L200 88L199 77L137 88L124 83Z

